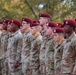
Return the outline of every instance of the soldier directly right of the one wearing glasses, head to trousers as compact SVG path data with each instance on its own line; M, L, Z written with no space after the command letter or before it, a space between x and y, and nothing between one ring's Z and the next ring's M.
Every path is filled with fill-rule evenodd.
M39 23L33 23L31 26L31 32L33 35L33 40L31 44L31 51L30 51L30 70L31 75L40 75L39 67L40 67L40 47L42 42L42 36L40 34L41 26Z

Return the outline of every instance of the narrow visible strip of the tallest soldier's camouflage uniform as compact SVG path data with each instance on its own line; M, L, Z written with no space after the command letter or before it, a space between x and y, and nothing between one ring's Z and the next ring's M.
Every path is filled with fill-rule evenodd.
M41 75L46 75L46 67L45 67L45 45L47 41L47 36L46 36L46 30L41 31L42 35L42 44L40 48L40 69L41 69Z

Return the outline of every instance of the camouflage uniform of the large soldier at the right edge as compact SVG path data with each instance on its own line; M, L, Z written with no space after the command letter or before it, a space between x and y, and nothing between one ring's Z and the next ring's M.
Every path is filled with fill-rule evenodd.
M62 75L72 74L76 59L76 36L73 33L69 38L66 39L66 44L63 49L62 56Z

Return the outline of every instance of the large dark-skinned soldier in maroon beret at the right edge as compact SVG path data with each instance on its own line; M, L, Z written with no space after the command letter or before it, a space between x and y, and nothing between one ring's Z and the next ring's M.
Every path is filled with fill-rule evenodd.
M66 43L63 49L61 62L61 75L72 75L74 66L76 65L76 22L74 20L64 20L64 31L68 34ZM74 73L76 75L76 73Z

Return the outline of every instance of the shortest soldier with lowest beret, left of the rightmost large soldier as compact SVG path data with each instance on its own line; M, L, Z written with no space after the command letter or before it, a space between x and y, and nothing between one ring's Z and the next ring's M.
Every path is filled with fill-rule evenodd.
M61 59L63 54L63 48L65 45L64 29L55 28L53 32L54 39L56 41L54 47L54 75L61 75Z

